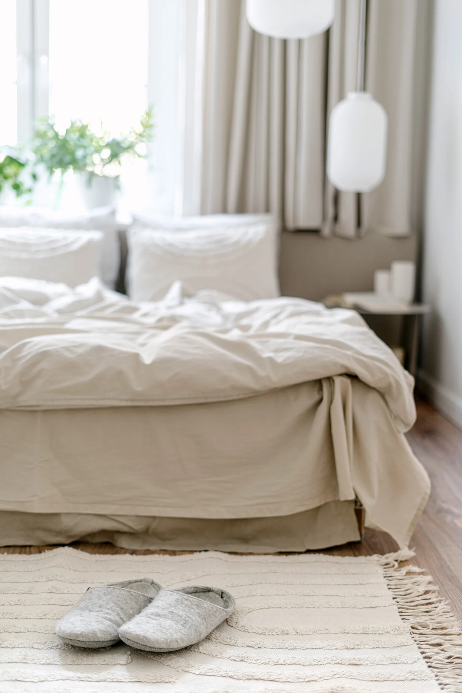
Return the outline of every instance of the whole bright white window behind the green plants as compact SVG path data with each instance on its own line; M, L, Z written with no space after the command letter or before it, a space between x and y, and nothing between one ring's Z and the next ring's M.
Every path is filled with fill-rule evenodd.
M189 1L0 0L0 146L27 145L40 117L58 130L82 119L123 134L152 105L150 172L145 161L123 167L122 207L173 211L180 17ZM45 188L35 186L34 204L55 204ZM60 204L77 197L64 191Z

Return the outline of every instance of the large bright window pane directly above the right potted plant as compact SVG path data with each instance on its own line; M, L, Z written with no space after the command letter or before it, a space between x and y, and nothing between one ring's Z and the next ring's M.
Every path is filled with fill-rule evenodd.
M127 132L148 106L148 0L49 0L49 107Z

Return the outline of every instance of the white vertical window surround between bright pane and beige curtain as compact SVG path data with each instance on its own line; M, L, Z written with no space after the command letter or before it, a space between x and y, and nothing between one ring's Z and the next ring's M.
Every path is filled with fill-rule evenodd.
M148 100L156 121L150 165L166 200L162 211L195 215L201 196L206 2L150 0L149 11Z

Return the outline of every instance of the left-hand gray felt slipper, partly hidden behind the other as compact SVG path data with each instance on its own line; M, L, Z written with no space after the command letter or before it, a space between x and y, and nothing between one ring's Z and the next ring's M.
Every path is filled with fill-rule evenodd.
M90 587L57 623L55 633L77 647L109 647L118 642L121 625L143 611L161 589L147 577Z

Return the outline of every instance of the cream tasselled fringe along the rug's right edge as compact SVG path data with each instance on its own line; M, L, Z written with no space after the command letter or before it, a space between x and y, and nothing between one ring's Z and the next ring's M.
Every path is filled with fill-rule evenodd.
M402 549L380 556L379 563L400 616L409 624L411 636L441 689L462 693L461 623L439 594L433 578L421 574L425 572L423 568L399 567L400 561L408 561L414 555L414 551Z

